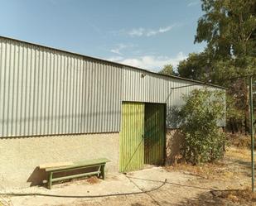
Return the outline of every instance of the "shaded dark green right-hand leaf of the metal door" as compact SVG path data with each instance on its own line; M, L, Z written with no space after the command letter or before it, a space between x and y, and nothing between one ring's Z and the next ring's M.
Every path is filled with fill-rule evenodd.
M162 165L165 156L165 107L161 103L145 105L145 164Z

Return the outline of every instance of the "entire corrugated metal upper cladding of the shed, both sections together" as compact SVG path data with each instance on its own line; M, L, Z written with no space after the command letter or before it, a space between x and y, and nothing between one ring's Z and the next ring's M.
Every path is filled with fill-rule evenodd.
M119 132L122 101L167 103L175 128L182 94L204 86L175 88L191 84L0 37L0 137Z

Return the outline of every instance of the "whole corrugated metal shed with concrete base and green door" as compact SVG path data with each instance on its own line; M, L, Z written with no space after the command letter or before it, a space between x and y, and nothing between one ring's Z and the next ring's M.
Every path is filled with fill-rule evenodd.
M0 185L41 184L55 161L162 165L182 95L204 87L223 89L0 36Z

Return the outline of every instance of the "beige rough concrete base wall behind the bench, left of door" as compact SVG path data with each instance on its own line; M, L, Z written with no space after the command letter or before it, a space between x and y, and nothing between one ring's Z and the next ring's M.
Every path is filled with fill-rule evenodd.
M0 138L0 186L23 188L46 180L38 165L105 157L106 172L118 171L119 134Z

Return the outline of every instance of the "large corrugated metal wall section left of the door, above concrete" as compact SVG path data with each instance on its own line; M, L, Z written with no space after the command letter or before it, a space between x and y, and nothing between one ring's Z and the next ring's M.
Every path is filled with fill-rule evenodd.
M121 69L0 38L0 137L118 132Z

